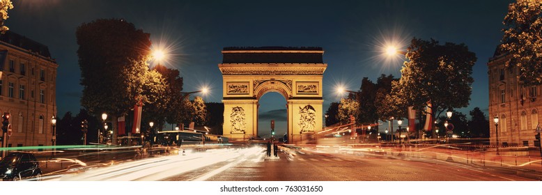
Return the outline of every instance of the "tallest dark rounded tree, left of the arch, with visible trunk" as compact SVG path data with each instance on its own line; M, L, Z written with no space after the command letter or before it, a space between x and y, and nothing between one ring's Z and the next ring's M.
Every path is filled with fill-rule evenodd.
M116 121L134 107L136 98L141 98L150 35L122 19L99 19L78 26L76 37L83 86L81 104L93 116L105 112ZM116 123L112 124L116 144Z

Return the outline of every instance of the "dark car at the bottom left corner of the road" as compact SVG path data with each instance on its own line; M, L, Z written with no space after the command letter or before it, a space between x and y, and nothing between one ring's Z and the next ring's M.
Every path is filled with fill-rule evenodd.
M0 178L17 181L41 177L40 164L32 153L10 153L0 162Z

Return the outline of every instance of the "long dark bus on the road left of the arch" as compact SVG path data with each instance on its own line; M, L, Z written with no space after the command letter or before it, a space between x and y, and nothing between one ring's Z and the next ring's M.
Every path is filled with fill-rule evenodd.
M205 137L199 132L163 131L156 134L154 142L161 146L199 145L205 143Z

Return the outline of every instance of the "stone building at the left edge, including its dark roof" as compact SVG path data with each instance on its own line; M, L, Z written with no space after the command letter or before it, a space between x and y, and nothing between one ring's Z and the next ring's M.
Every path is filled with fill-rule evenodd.
M46 45L12 31L0 34L0 114L10 113L13 129L8 147L52 145L58 67Z

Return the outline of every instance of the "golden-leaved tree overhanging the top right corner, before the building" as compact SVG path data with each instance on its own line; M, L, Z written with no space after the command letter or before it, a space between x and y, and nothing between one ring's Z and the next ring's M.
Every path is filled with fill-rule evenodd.
M501 51L508 53L506 67L518 67L525 86L542 84L542 2L511 3L502 22L505 26Z

